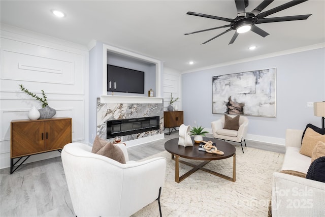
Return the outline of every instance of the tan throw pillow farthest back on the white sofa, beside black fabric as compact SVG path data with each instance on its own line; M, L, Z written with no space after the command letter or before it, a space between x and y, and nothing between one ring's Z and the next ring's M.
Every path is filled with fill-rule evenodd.
M305 156L311 157L311 153L318 141L325 142L325 135L321 135L311 128L307 128L299 152Z

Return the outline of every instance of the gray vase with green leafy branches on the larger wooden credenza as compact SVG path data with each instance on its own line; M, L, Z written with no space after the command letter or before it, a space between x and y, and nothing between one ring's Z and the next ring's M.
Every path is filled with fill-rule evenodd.
M47 104L47 97L45 95L44 90L42 89L42 96L43 98L40 98L39 96L37 96L36 94L33 94L32 92L30 92L28 89L26 89L24 87L24 85L19 84L20 89L22 91L24 91L27 95L31 96L32 98L37 99L38 101L40 101L42 103L42 109L39 109L40 112L40 119L47 119L47 118L51 118L56 114L56 110L49 107L49 105Z

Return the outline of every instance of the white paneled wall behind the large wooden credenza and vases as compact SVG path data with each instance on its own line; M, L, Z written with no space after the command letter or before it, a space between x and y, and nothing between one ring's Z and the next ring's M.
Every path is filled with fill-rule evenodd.
M2 24L0 78L0 168L10 167L10 122L28 119L41 103L18 84L41 96L43 89L54 117L72 117L74 142L88 141L88 51L81 45ZM23 145L23 144L21 144ZM26 163L59 156L37 154Z

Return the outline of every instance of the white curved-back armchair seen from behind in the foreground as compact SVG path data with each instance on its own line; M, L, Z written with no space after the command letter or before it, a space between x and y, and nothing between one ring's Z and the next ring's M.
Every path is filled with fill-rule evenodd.
M73 208L77 216L130 216L157 200L166 172L166 159L128 161L126 164L91 152L82 143L63 147L61 158Z

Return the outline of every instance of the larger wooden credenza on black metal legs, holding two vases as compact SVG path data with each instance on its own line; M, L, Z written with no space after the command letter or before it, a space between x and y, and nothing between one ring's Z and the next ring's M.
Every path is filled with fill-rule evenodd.
M10 174L31 155L54 150L61 151L64 145L72 142L72 118L70 117L13 120L10 130ZM24 161L14 169L23 157L26 157ZM14 163L15 158L19 158L16 163Z

